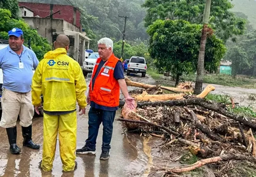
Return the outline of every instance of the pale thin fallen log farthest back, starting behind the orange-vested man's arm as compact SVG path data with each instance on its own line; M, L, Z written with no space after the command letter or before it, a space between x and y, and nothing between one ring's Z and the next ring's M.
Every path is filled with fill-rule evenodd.
M152 87L157 87L156 85L149 85L149 84L144 84L144 83L139 83L139 82L134 82L132 80L129 80L128 78L125 78L125 82L127 86L132 86L132 87L141 87L144 89L149 89ZM165 86L160 86L161 89L168 90L174 93L190 93L193 92L192 89L186 90L186 89L180 89L176 87L165 87Z

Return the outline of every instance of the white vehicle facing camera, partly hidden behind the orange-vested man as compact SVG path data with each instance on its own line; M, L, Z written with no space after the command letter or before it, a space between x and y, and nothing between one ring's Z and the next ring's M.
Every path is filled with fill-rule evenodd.
M98 52L93 52L90 54L88 58L85 59L83 62L83 75L87 76L88 73L93 72L94 65L96 63L96 60L99 58L99 53Z

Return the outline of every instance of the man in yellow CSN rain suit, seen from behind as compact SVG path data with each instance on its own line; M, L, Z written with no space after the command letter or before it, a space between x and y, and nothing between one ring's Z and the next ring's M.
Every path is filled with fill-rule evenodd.
M54 51L44 55L32 80L32 103L35 110L44 97L43 159L39 163L44 171L50 171L56 150L59 130L60 155L63 171L76 170L76 101L80 115L85 114L86 83L77 61L68 57L69 39L58 35Z

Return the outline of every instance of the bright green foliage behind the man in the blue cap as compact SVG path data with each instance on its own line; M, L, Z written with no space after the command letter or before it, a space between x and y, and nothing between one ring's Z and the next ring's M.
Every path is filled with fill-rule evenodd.
M24 32L25 41L31 40L32 50L39 60L44 58L44 54L51 50L51 45L46 38L42 38L36 30L29 27L22 19L12 19L11 12L7 9L0 9L0 38L8 39L8 31L12 28L21 28Z

